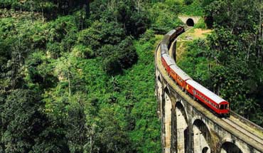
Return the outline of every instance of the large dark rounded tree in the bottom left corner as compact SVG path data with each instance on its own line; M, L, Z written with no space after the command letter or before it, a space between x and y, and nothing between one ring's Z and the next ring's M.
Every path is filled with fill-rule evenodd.
M30 152L47 124L43 102L30 90L12 90L6 97L1 118L5 152Z

